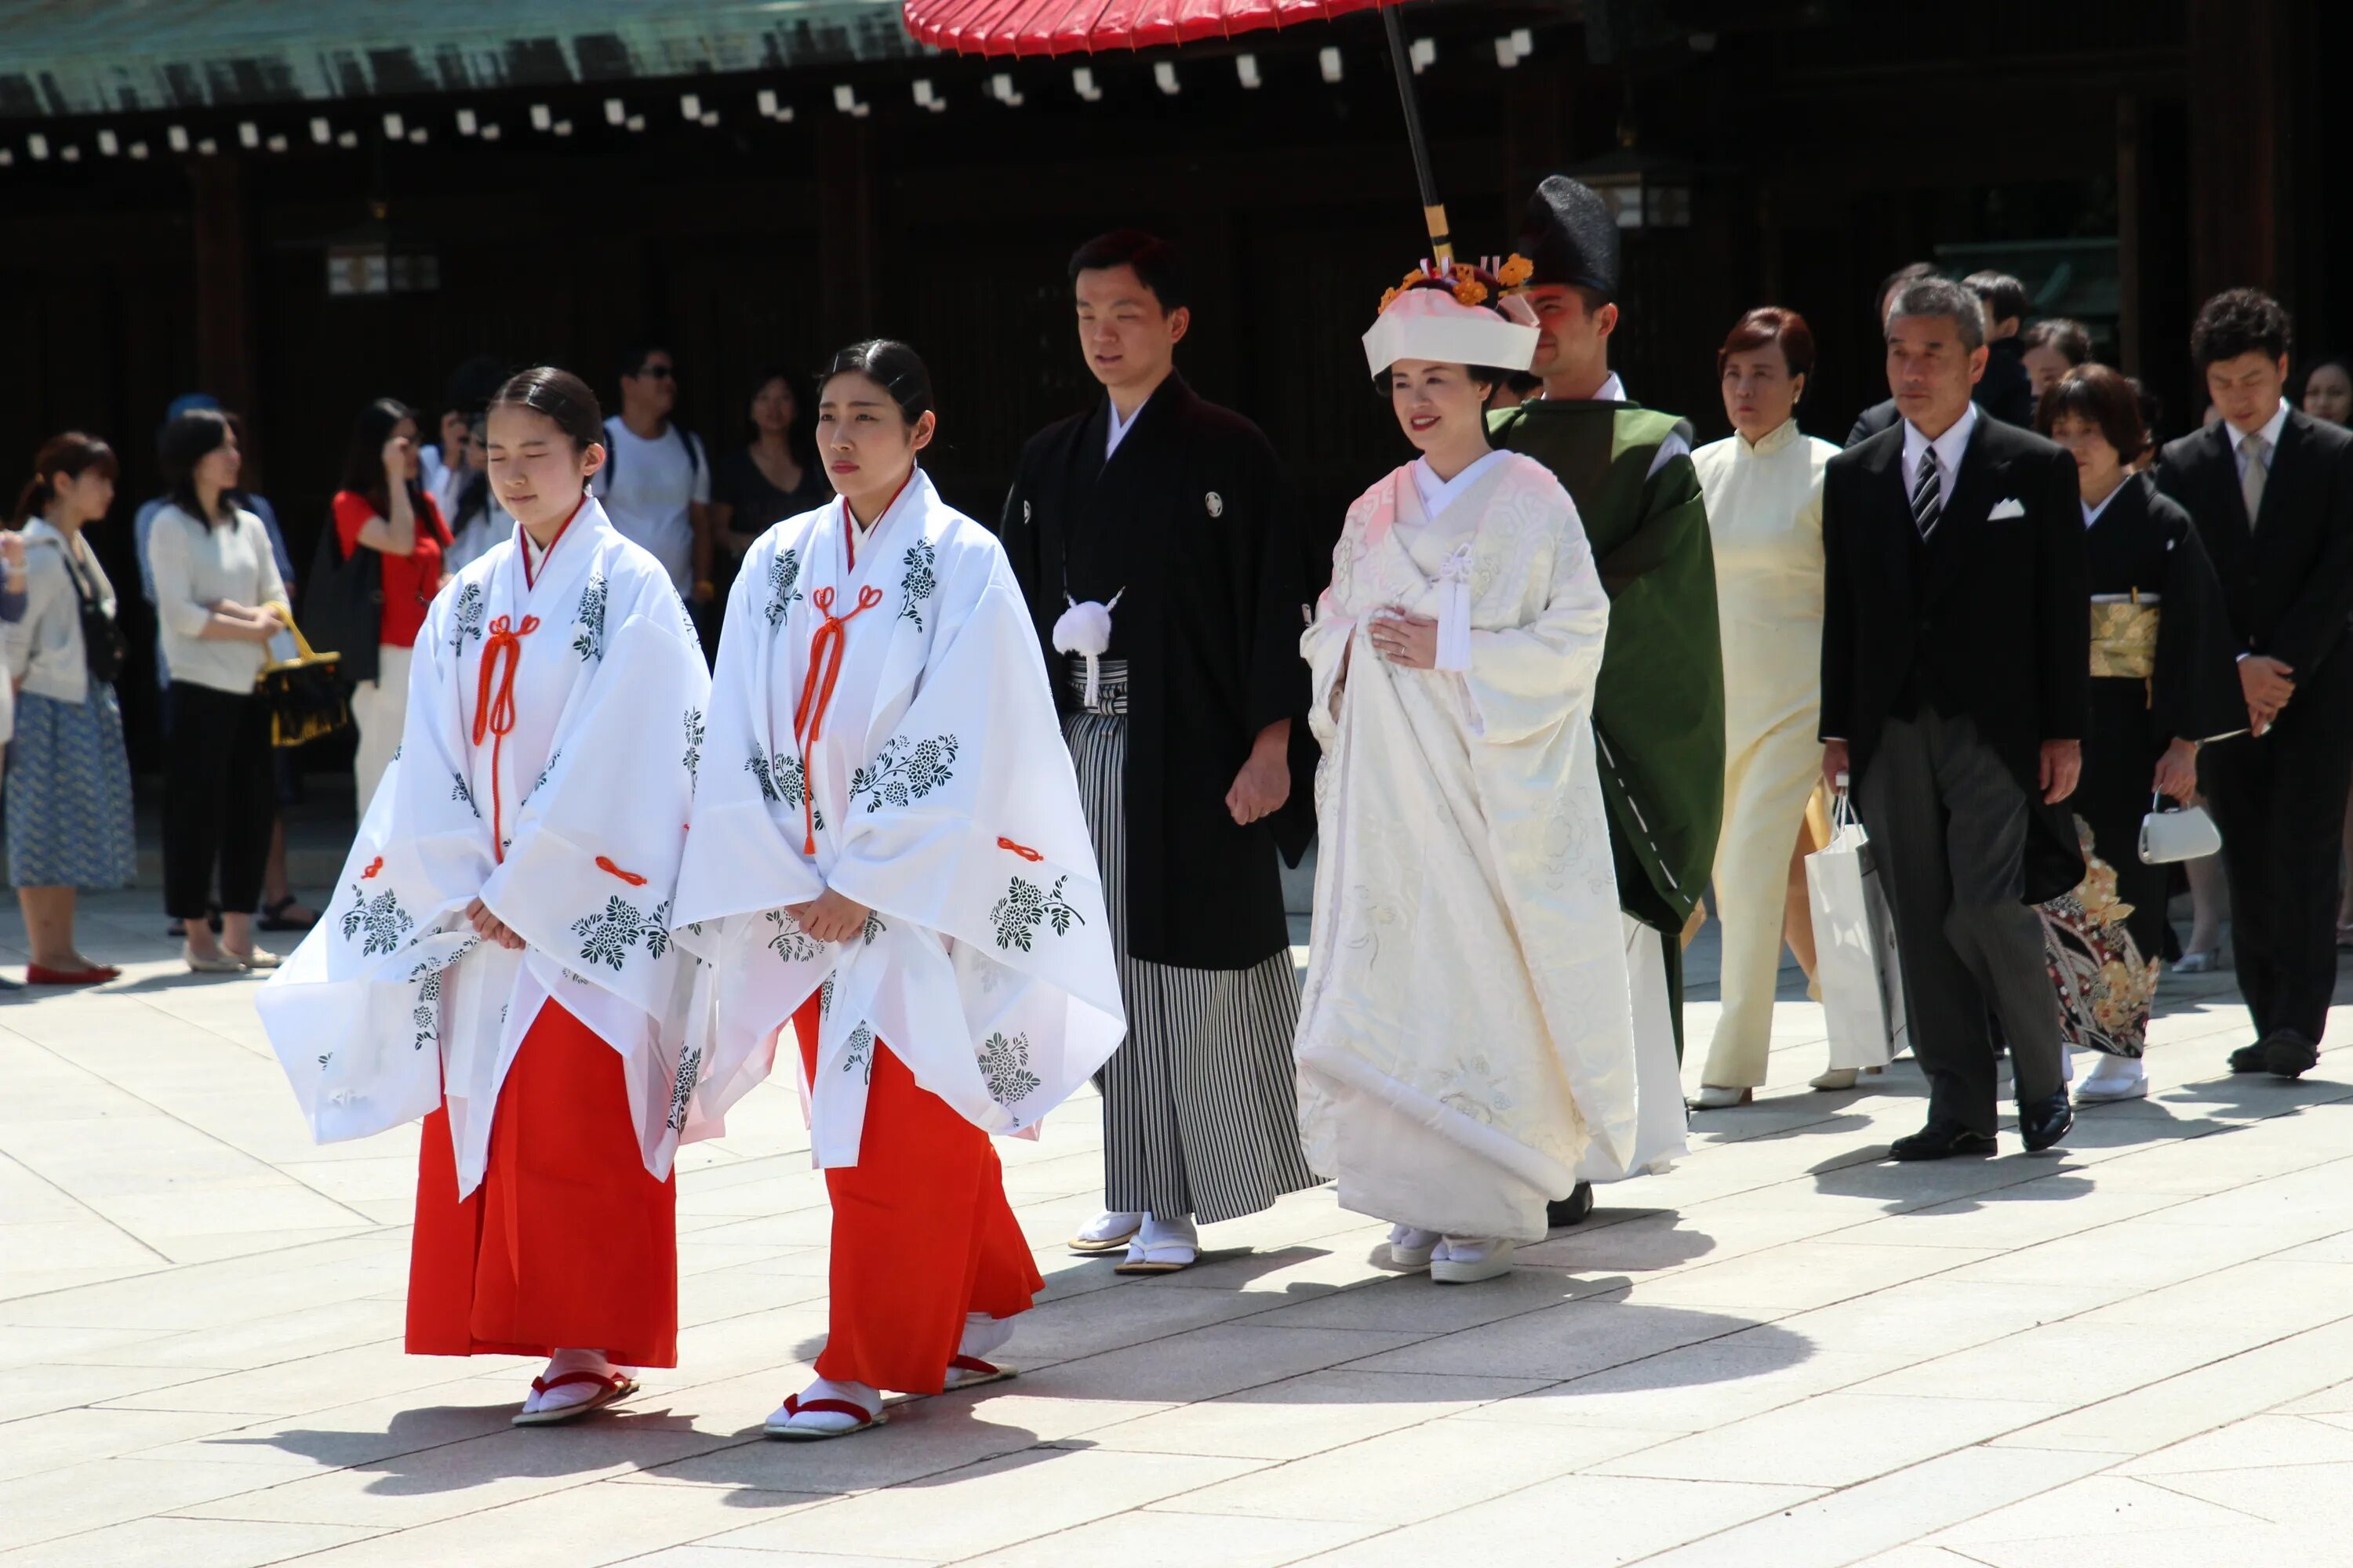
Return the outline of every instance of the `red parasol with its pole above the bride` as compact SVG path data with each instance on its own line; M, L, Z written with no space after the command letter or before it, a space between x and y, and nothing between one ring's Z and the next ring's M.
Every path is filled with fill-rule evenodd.
M1405 101L1405 136L1414 148L1421 216L1431 228L1431 254L1454 261L1447 209L1438 202L1431 150L1414 101L1414 68L1398 26L1402 0L901 0L906 31L934 49L958 54L1101 54L1108 49L1155 49L1202 38L1233 38L1259 28L1327 21L1348 12L1379 9L1388 31L1388 63Z

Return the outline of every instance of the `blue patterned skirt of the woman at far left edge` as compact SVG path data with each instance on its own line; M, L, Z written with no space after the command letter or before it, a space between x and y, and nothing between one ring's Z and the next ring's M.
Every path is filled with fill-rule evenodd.
M80 703L16 693L7 752L9 886L122 889L139 877L132 764L115 689Z

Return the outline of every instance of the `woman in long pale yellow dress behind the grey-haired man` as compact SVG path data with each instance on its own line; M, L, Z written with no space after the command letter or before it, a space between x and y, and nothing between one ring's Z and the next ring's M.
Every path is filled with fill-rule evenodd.
M1838 454L1798 430L1814 334L1765 306L1715 355L1727 440L1692 454L1715 543L1725 639L1725 825L1715 914L1722 1013L1694 1105L1746 1105L1765 1081L1791 853L1821 771L1821 470Z

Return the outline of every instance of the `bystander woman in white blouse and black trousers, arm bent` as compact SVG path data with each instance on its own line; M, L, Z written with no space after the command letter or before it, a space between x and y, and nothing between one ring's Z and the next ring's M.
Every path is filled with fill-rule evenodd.
M158 440L172 503L155 515L148 564L155 621L172 670L165 736L162 896L184 922L188 969L275 969L254 947L254 905L271 846L271 719L254 691L268 639L292 623L285 581L261 520L238 508L238 435L214 409L193 409ZM221 877L221 936L207 905Z

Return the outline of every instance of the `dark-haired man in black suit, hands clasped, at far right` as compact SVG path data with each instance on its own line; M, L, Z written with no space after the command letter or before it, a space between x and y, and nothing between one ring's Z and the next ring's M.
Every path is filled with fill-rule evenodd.
M2257 1034L2231 1072L2282 1079L2313 1067L2329 1020L2353 776L2353 435L2287 407L2289 336L2287 310L2254 289L2209 299L2191 357L2221 418L2158 458L2158 487L2198 522L2242 649L2249 733L2198 764Z

